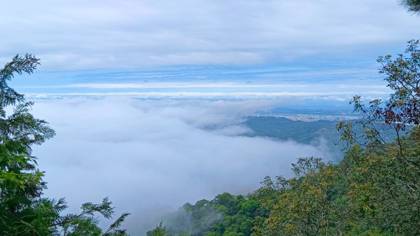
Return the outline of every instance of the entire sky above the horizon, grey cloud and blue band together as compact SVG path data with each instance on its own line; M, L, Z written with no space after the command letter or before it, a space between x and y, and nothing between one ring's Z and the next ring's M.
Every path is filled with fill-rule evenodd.
M396 0L8 1L0 27L0 64L17 53L41 58L34 76L13 81L33 95L250 97L296 83L307 86L303 95L314 84L326 96L349 86L342 99L387 94L351 85L383 86L377 56L401 53L420 36L412 30L420 21Z

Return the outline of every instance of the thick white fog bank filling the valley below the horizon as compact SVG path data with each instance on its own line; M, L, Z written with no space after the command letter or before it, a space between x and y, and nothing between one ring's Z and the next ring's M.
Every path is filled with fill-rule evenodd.
M265 176L290 175L302 156L326 149L246 137L243 117L277 100L206 101L44 99L33 113L57 135L34 148L48 197L66 197L69 211L109 196L132 235L144 235L162 214L218 193L246 194Z

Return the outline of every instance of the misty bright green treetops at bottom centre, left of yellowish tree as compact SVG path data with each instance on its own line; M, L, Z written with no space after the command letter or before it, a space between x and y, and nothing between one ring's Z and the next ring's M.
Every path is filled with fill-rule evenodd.
M255 194L244 197L222 193L211 201L184 204L166 218L166 227L172 235L251 235L262 212L268 214L261 207ZM153 235L153 230L148 235Z

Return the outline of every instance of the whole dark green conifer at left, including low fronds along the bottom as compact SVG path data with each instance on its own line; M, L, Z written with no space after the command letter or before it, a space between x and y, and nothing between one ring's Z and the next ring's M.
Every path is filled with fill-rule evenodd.
M44 172L31 147L55 132L45 120L32 116L32 102L8 86L14 74L31 74L39 64L32 55L16 55L0 70L0 235L127 235L119 229L127 213L105 232L97 226L95 214L105 218L114 214L107 198L101 204L83 204L80 214L60 216L67 207L64 199L41 197Z

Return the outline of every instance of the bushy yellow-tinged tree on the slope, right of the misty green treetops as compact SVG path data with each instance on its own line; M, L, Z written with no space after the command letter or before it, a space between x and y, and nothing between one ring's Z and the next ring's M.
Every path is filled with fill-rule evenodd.
M258 235L342 235L350 217L341 171L320 158L297 160L293 178L277 178L277 200Z

